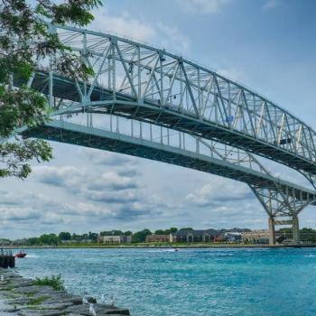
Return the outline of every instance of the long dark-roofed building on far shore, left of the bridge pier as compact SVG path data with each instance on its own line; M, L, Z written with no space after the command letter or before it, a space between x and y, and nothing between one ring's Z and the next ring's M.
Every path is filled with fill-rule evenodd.
M215 229L206 230L186 230L181 229L172 234L173 243L209 243L218 236L218 231Z

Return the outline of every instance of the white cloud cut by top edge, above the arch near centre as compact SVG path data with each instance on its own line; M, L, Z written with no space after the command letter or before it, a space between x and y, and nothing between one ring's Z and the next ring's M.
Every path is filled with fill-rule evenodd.
M177 0L184 10L201 14L217 14L230 0Z

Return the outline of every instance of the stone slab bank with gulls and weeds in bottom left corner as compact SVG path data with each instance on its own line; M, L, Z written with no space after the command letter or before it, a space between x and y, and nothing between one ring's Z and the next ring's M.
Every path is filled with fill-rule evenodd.
M104 316L130 315L129 310L97 303L91 296L72 295L51 286L34 285L32 279L0 269L0 315Z

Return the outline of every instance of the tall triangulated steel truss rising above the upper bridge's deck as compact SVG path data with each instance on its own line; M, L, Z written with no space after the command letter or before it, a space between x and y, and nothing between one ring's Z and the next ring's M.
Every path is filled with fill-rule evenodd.
M275 148L316 161L310 126L236 81L181 56L113 34L57 27L60 40L87 60L96 73L88 82L137 102L172 108L211 124L249 135ZM79 85L84 95L84 85ZM93 88L91 88L93 87Z

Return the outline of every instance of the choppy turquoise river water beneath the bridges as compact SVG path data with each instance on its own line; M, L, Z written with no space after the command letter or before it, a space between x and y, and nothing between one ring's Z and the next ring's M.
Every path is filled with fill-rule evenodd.
M24 276L62 274L138 316L316 315L316 249L39 249Z

